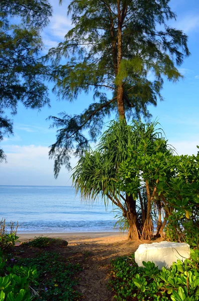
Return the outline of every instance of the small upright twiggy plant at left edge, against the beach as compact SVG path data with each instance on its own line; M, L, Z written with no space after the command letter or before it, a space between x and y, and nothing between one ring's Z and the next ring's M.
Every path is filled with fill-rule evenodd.
M18 222L10 222L7 225L6 219L0 221L0 248L2 250L8 250L15 246L15 242L19 238L19 236L17 236L18 227ZM8 228L9 230L7 230Z

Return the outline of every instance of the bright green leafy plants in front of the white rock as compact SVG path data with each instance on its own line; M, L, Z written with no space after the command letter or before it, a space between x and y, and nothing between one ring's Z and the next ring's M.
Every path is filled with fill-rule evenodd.
M191 259L177 260L169 269L158 270L153 262L138 267L132 257L112 262L110 287L115 299L197 301L199 299L198 250L191 250Z

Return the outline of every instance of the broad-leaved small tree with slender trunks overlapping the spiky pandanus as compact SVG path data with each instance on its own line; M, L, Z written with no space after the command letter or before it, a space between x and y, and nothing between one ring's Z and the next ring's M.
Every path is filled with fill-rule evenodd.
M134 202L139 200L140 203L141 227L138 230L142 239L150 240L153 237L155 220L152 213L158 216L156 235L163 233L167 218L165 207L168 208L168 204L167 198L159 194L157 187L160 182L168 183L174 177L176 160L173 158L172 149L167 144L167 140L162 137L161 131L155 130L154 124L151 123L146 126L138 143L128 147L126 160L120 164L118 170L120 190L132 195ZM142 191L146 196L145 202Z

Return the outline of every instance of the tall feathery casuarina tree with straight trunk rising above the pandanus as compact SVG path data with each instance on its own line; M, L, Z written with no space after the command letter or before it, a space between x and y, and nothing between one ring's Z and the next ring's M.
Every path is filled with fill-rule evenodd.
M187 36L166 25L176 17L168 4L169 0L71 1L68 13L74 27L47 56L52 60L51 80L59 96L73 101L82 92L93 92L94 102L79 115L50 116L58 127L50 150L56 177L62 165L70 168L75 147L76 155L88 147L85 130L95 141L111 113L120 120L149 117L147 106L162 99L164 78L181 77L176 66L189 55Z

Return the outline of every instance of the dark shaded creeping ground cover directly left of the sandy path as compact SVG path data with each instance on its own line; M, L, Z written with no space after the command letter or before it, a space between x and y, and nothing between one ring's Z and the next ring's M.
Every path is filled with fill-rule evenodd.
M39 293L34 300L72 301L80 295L74 288L78 284L77 273L82 270L79 263L73 264L63 260L63 257L54 252L38 253L36 258L24 258L19 264L32 268L36 266L40 286L33 285Z

